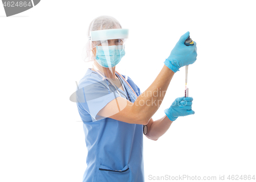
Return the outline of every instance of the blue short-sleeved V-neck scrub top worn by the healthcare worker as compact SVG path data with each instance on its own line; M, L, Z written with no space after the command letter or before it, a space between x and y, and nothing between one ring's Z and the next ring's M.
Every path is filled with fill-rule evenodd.
M102 81L102 77L91 69L79 81L77 90L80 93L77 95L82 95L83 99L77 96L77 108L88 149L83 182L144 181L143 125L97 115L116 97L121 96L131 102L136 100L134 92L121 80L128 94L118 89L119 95L109 81ZM130 77L127 82L139 96L140 89Z

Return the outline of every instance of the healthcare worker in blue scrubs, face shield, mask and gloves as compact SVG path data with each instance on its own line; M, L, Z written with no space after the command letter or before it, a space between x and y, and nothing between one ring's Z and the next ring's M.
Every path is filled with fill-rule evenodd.
M178 117L195 113L191 110L193 98L179 97L164 110L162 118L152 119L175 72L196 61L196 42L184 45L189 32L181 36L143 93L129 76L116 71L125 55L128 34L129 30L122 29L111 16L97 17L89 26L85 54L93 67L86 71L76 90L88 149L83 182L144 181L143 134L157 140Z

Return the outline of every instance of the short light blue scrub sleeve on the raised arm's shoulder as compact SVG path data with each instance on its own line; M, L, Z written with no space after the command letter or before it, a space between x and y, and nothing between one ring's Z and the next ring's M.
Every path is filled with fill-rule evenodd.
M110 101L121 96L109 81L102 80L101 76L90 69L78 87L79 89L76 90L77 106L88 112L92 121L102 119L103 117L98 116L97 113Z

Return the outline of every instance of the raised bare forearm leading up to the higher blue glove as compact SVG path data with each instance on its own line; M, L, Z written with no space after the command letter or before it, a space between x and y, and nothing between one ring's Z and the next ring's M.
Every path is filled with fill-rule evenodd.
M165 65L150 87L133 103L134 113L139 113L141 120L150 120L160 107L174 72Z

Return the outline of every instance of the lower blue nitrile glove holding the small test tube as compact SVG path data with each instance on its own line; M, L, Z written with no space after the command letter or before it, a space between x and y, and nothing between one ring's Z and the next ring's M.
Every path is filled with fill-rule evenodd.
M191 110L192 101L192 97L178 97L169 109L164 110L164 113L171 121L175 121L179 116L195 114L195 111Z

